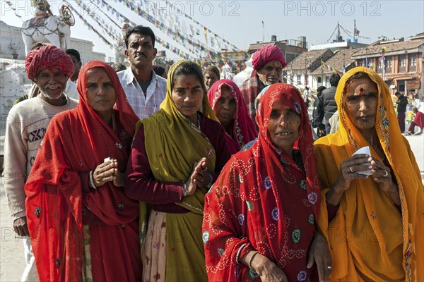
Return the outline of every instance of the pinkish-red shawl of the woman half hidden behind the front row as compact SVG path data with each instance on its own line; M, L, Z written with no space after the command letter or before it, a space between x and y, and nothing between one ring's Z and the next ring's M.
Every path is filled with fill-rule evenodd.
M254 140L254 138L257 137L257 131L247 112L245 100L240 93L239 87L231 80L223 79L213 83L211 89L208 91L208 99L212 109L215 109L216 102L218 102L218 99L220 99L222 95L221 88L223 85L227 85L228 88L230 88L230 93L237 104L233 121L228 125L231 126L229 133L230 137L232 137L236 143L236 147L232 148L232 153L235 153L240 151L248 142ZM225 130L227 130L227 128L225 128Z

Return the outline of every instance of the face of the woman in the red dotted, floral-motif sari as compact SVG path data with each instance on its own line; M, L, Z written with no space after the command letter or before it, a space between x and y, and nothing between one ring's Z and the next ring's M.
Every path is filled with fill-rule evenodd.
M290 153L299 138L299 129L300 115L281 101L274 102L267 128L272 144Z

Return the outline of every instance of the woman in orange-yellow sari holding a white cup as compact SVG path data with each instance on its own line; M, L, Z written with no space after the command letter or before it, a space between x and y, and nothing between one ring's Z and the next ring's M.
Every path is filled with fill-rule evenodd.
M389 89L353 68L335 98L340 128L315 143L331 280L424 281L423 183ZM363 147L370 154L354 154Z

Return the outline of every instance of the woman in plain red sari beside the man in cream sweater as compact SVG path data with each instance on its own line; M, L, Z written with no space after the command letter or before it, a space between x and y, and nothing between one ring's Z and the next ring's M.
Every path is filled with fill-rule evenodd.
M107 63L83 66L78 92L25 185L37 271L41 281L140 281L139 203L122 188L138 118Z

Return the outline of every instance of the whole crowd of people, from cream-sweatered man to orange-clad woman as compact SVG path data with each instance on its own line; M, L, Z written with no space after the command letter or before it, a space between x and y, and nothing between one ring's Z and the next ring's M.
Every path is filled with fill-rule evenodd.
M310 121L276 46L239 88L153 66L149 27L124 41L128 67L25 57L4 150L22 281L424 281L423 181L377 73L332 75Z

